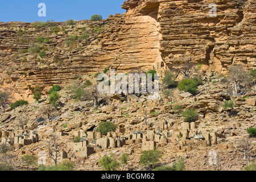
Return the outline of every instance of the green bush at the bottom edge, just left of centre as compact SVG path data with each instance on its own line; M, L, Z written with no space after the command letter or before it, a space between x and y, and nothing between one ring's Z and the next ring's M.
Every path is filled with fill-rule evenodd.
M104 171L117 171L117 169L119 168L119 163L117 162L113 154L111 154L110 156L103 156L98 161L98 164L100 164Z

